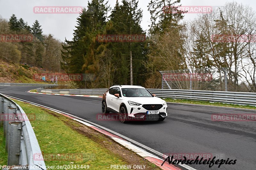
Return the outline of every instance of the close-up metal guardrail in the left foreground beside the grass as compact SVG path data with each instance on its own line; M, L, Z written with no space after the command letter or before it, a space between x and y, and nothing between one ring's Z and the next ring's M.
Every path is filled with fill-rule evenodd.
M40 146L27 115L18 104L3 94L0 94L0 127L4 127L7 166L46 170ZM36 157L40 159L35 159Z

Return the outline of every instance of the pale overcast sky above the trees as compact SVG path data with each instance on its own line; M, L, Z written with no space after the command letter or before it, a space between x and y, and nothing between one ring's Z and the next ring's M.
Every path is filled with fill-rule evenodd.
M121 0L118 0L119 2ZM150 24L150 14L148 12L148 3L150 0L139 0L139 7L143 10L143 19L141 26L144 30L148 30ZM228 0L181 0L182 6L223 6ZM250 5L256 11L255 0L236 0L238 3ZM44 34L52 34L60 41L73 38L73 30L76 26L76 18L79 14L37 14L34 13L35 6L83 6L87 7L87 0L0 0L0 15L2 18L10 18L15 14L17 18L23 18L32 25L37 19L42 25ZM116 0L109 0L110 6L113 8ZM185 14L186 20L193 20L197 14Z

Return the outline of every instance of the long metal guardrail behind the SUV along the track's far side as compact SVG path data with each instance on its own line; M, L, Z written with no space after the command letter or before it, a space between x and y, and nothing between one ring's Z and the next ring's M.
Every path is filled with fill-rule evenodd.
M102 95L108 89L44 89L37 88L37 92L56 94ZM239 105L256 106L256 93L249 92L220 92L201 90L172 90L148 89L149 92L161 98L200 100Z

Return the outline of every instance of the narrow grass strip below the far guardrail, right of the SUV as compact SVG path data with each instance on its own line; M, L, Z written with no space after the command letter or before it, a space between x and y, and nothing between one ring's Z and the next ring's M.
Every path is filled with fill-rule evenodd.
M209 102L209 101L196 101L196 100L180 100L180 99L170 99L166 98L163 99L166 102L172 102L172 103L189 103L189 104L199 104L199 105L210 105L210 106L223 106L223 107L235 107L235 108L244 108L244 109L254 109L256 110L256 107L254 106L248 106L248 105L234 105L234 104L226 104L226 103L218 103L218 102Z

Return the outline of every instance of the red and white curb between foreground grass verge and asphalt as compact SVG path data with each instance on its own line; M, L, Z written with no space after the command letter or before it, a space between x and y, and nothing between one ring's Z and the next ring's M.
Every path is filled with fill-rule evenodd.
M70 119L73 119L73 120L75 120L75 121L77 121L77 122L80 122L80 123L82 123L82 124L84 124L84 125L86 125L86 126L92 128L92 129L95 129L95 130L97 130L98 132L100 132L100 133L102 133L102 134L104 134L104 135L110 137L111 139L113 139L113 140L116 141L117 143L123 145L124 147L126 147L126 148L128 148L128 149L130 149L130 150L132 150L132 151L135 152L136 154L140 155L140 156L143 157L144 159L147 159L149 162L155 164L156 166L160 167L161 169L164 169L164 170L181 170L180 168L178 168L178 167L176 167L176 166L174 166L174 165L172 165L172 164L169 164L168 162L165 162L164 165L161 166L162 163L164 162L163 159L161 159L161 158L157 157L156 155L153 155L152 153L149 153L149 152L147 152L147 151L141 149L140 147L138 147L138 146L136 146L136 145L134 145L134 144L128 142L128 141L125 140L123 137L121 137L122 135L120 135L120 136L119 136L119 135L115 135L115 134L112 134L112 133L108 132L107 130L100 129L100 128L98 128L97 126L94 126L94 125L93 125L94 123L92 123L92 122L91 122L92 124L91 124L91 123L88 123L89 121L88 121L88 122L84 122L84 121L82 121L82 120L77 119L77 118L79 118L79 117L77 117L77 116L74 116L74 115L71 115L71 114L68 114L68 113L59 111L59 110L57 110L57 109L53 109L53 108L51 108L51 107L46 107L46 106L43 106L43 105L40 105L40 104L37 104L37 103L33 103L33 102L30 102L30 101L27 101L27 100L15 98L15 97L8 96L8 95L4 95L4 96L6 96L6 97L8 97L8 98L10 98L10 99L19 100L19 101L26 102L26 103L31 104L31 105L35 105L35 106L37 106L37 107L42 107L42 108L44 108L44 109L51 110L51 111L53 111L53 112L59 113L59 114L61 114L61 115L64 115L64 116L66 116L66 117L68 117L68 118L70 118ZM76 118L76 117L77 117L77 118ZM80 119L81 119L81 118L80 118ZM109 130L109 131L110 131L110 130ZM141 145L142 145L142 144L141 144ZM196 170L196 169L194 169L194 168L192 168L192 167L190 167L190 166L186 166L186 165L182 165L182 166L185 167L185 168L187 168L187 169L189 169L189 170Z

